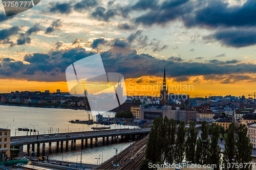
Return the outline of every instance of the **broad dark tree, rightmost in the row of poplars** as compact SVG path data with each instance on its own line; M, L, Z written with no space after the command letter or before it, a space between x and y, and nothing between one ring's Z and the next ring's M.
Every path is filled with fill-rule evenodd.
M249 163L252 160L252 143L250 142L250 138L247 134L248 128L245 124L240 124L238 127L238 136L237 136L237 155L236 155L236 161L239 164L245 165L245 163ZM240 167L240 170L248 170L251 169L251 166L243 166Z

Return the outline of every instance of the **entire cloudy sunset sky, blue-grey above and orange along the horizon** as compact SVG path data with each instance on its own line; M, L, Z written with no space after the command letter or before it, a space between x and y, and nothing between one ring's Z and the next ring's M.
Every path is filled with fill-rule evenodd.
M68 91L66 68L97 53L130 95L152 95L147 85L159 95L164 66L169 93L256 91L254 0L41 0L10 17L0 10L2 93Z

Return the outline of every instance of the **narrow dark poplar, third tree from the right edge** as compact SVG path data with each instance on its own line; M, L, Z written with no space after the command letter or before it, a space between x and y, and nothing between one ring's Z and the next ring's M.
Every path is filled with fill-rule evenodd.
M211 142L208 152L207 164L215 164L215 169L220 169L221 148L219 146L220 127L216 123L211 124Z

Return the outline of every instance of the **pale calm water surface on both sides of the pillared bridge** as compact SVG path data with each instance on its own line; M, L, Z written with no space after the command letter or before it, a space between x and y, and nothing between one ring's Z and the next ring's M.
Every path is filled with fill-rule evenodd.
M93 119L96 120L96 114L98 111L92 111ZM91 114L90 114L91 116ZM114 112L105 112L103 117L114 117ZM35 108L35 107L22 107L22 106L4 106L0 105L0 128L11 129L11 136L22 136L27 135L27 132L18 131L18 128L29 128L39 131L39 134L48 133L66 133L68 130L70 132L79 131L91 131L92 127L102 127L103 125L82 125L82 124L71 124L70 120L87 120L88 115L86 111L83 110L73 110L73 109L56 109L56 108ZM53 125L53 131L51 127ZM68 126L69 125L69 126ZM108 126L106 126L108 127ZM124 128L137 128L134 126L123 126L123 125L110 125L111 129L124 129ZM36 132L37 134L38 132ZM30 132L28 133L30 135ZM33 135L33 133L31 133ZM99 139L100 142L100 139ZM63 152L63 160L80 162L80 140L77 140L76 151ZM109 146L99 146L97 148L88 148L82 151L82 163L97 164L95 159L100 156L100 162L102 162L102 151L103 151L103 162L108 160L115 155L114 148L118 148L118 152L129 147L130 143L118 143ZM52 153L50 154L50 159L62 160L62 153L55 153L56 143L52 143ZM69 149L70 150L70 149ZM26 146L24 146L24 152L27 151ZM48 143L46 143L46 152L48 153ZM40 151L41 153L41 151Z

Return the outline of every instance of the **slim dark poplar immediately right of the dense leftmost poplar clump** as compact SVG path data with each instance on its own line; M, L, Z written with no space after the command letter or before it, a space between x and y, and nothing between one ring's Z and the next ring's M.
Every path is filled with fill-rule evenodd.
M176 144L175 162L176 163L182 163L184 159L186 131L187 129L185 128L185 123L184 121L182 121L179 125L178 132L177 132L177 139L175 141L175 144Z

